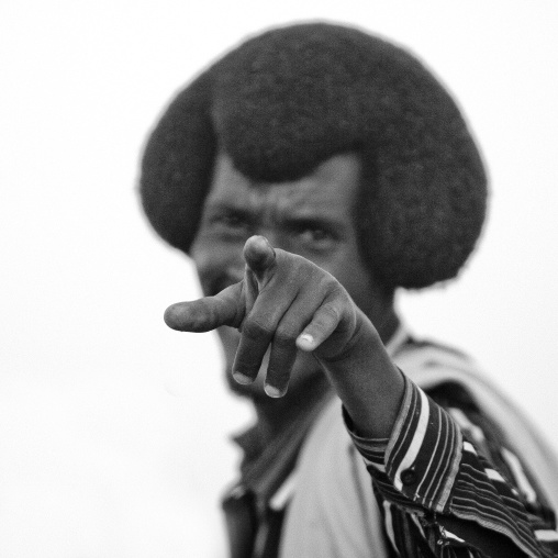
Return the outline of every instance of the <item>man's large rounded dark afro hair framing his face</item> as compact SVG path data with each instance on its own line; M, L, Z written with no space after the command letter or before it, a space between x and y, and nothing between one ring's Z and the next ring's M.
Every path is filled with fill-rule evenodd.
M356 29L267 31L169 104L146 143L140 191L154 228L186 253L217 149L269 182L358 153L360 250L388 289L455 277L484 221L484 168L451 97L408 52Z

